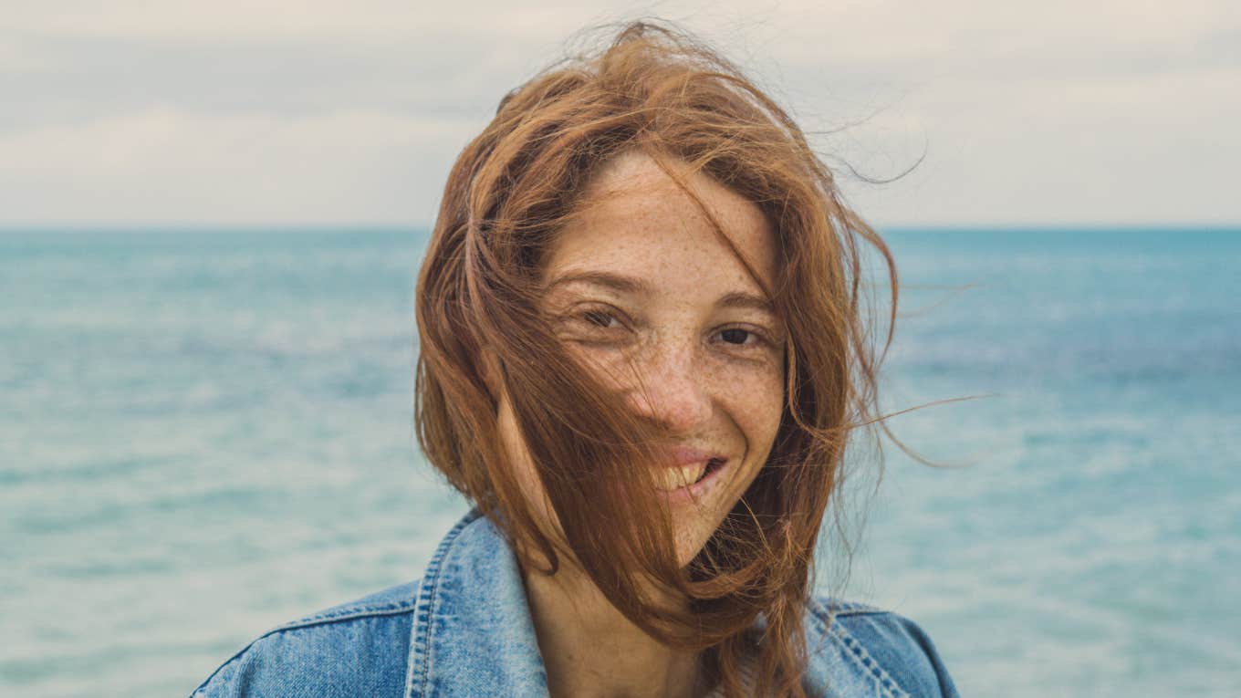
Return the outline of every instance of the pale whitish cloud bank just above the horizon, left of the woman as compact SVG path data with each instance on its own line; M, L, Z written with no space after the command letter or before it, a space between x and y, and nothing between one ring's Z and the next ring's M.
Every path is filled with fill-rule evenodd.
M0 138L0 210L16 224L426 221L460 120L305 118L153 108Z

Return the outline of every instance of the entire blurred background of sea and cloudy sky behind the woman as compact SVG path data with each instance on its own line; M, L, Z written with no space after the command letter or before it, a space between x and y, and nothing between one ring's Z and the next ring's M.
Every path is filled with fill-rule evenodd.
M1241 691L1235 2L0 0L0 693L187 694L421 574L467 509L411 428L448 168L642 15L889 240L884 406L993 395L890 421L968 467L889 445L820 590L918 621L963 696Z

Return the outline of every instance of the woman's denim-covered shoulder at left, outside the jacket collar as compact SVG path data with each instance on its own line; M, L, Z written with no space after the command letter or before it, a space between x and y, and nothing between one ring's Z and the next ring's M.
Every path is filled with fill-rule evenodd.
M277 626L211 673L191 698L401 694L421 581Z

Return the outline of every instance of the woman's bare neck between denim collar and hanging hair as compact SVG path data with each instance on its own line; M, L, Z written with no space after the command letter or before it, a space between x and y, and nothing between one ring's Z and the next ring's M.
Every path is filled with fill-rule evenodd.
M666 647L624 617L580 569L530 570L526 596L552 698L694 698L697 653Z

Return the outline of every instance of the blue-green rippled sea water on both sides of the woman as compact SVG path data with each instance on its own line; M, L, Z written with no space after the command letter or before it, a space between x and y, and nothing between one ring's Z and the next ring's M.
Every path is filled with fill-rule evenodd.
M987 396L889 421L956 467L886 443L820 589L917 620L963 696L1241 694L1241 231L886 238L885 409ZM186 694L419 574L465 509L412 436L424 243L0 233L0 694Z

